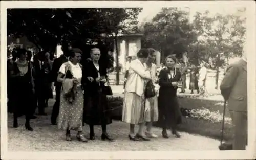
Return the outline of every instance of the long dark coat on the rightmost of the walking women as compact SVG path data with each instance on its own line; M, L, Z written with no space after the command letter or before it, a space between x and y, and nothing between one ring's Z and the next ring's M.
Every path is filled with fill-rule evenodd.
M177 88L172 85L172 82L179 82L181 73L176 69L176 74L173 78L169 78L168 73L169 70L164 68L159 74L159 121L163 125L173 127L181 123L181 112L177 99Z

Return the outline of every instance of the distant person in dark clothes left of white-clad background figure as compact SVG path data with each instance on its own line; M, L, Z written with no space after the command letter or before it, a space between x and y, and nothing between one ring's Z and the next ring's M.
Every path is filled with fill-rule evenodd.
M197 90L199 94L198 87L198 68L193 64L190 68L190 80L189 80L189 90L191 90L190 94L194 94L194 90Z

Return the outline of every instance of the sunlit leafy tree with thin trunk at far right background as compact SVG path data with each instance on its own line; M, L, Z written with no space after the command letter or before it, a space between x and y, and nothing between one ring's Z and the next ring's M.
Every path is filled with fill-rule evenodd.
M243 13L245 10L239 11ZM199 35L197 44L192 48L198 49L198 58L211 61L216 72L216 89L218 87L219 68L226 64L230 57L241 56L245 40L245 18L239 15L209 16L209 12L196 13L193 21ZM193 50L193 49L192 49ZM191 56L191 55L190 55ZM193 57L193 56L192 56Z

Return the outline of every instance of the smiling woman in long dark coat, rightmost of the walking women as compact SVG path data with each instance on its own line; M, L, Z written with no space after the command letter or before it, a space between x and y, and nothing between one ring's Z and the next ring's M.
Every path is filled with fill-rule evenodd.
M162 125L162 135L168 138L167 128L170 126L172 134L180 138L176 130L177 125L181 123L181 112L177 99L178 83L181 79L180 71L175 68L177 59L173 56L166 57L166 68L159 74L159 122Z

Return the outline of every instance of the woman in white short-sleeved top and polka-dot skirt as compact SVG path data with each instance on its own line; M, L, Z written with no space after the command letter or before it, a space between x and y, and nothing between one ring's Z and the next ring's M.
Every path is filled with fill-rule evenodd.
M79 63L81 60L82 51L80 49L72 49L70 61L63 63L59 69L57 81L66 83L73 80L74 95L71 99L64 96L63 86L60 94L60 108L58 116L58 129L66 130L66 140L71 141L70 130L77 130L76 138L81 142L88 140L82 133L82 118L83 118L83 92L81 86L82 66Z

